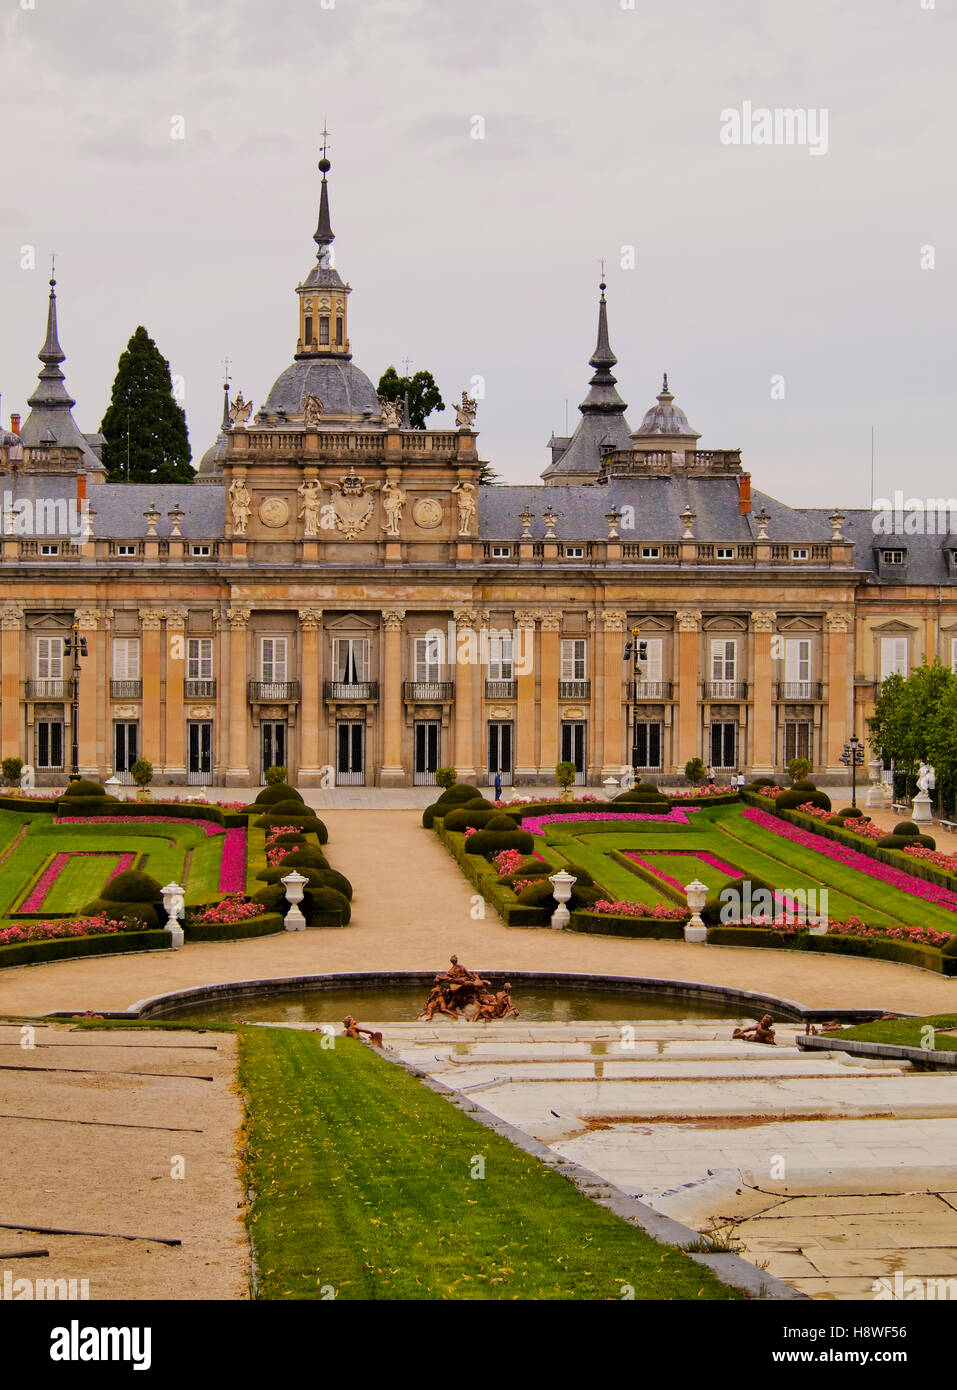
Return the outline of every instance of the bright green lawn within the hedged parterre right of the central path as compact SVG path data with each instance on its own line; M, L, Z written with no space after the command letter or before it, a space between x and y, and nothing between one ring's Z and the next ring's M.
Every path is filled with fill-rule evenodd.
M695 849L707 849L734 865L743 876L753 874L772 887L793 890L828 890L828 912L832 917L862 917L874 926L925 926L940 931L957 930L957 913L939 908L924 898L894 888L890 884L860 873L846 865L836 863L823 853L805 849L801 845L775 835L773 831L746 820L737 806L709 806L690 813L691 824L677 830L659 830L654 823L645 830L632 823L630 833L622 826L609 828L609 821L587 821L580 824L562 821L545 827L545 840L537 841L537 848L549 859L555 852L572 863L580 863L593 874L597 883L616 898L633 902L672 903L673 897L662 885L661 890L632 874L609 858L609 851L634 849L643 856L651 855L655 865L683 883L691 874ZM655 851L682 851L691 856L687 860L670 859L669 855L655 858ZM670 867L669 867L670 860ZM694 873L716 892L727 881L711 865L697 860Z

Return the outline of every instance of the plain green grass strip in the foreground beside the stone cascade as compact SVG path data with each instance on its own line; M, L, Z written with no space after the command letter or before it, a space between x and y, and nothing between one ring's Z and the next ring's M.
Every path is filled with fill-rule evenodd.
M362 1042L246 1029L239 1073L260 1298L736 1297Z

